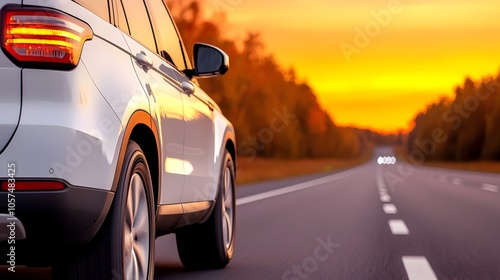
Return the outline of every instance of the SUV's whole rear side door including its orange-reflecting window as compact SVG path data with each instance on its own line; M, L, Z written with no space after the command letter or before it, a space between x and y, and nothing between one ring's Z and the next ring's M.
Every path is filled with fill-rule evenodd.
M151 115L160 134L163 170L159 204L178 204L182 198L185 177L184 108L176 77L179 72L175 66L176 62L180 63L179 57L174 51L168 54L171 56L169 59L158 55L160 52L156 45L160 42L160 34L154 34L151 28L151 14L148 14L144 1L117 0L116 3L118 26L123 30L129 29L132 38L125 35L125 40L129 45L137 76L149 95ZM122 16L120 13L123 11ZM123 24L124 21L128 26ZM180 54L180 60L184 64L182 53ZM172 57L177 61L174 62Z

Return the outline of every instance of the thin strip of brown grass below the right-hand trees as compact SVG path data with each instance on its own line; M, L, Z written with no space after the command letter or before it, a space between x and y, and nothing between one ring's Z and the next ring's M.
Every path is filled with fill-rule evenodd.
M405 147L394 146L393 151L395 155L402 157L405 161L409 162L409 154ZM500 174L500 162L496 161L426 161L423 166Z

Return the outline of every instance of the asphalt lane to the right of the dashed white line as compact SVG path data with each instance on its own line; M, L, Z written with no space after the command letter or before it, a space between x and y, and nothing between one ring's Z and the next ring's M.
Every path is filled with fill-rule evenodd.
M430 168L415 173L391 193L410 231L396 247L425 256L439 279L500 279L500 195L484 187L500 186L498 176Z

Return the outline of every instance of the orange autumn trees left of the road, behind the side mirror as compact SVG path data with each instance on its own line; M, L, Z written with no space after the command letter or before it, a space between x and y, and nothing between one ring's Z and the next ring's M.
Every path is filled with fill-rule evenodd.
M203 15L203 1L166 3L188 48L205 42L231 58L225 76L198 81L235 126L239 155L349 158L370 147L370 133L338 127L308 83L265 52L259 34L248 33L236 42L221 30L224 14L217 20Z

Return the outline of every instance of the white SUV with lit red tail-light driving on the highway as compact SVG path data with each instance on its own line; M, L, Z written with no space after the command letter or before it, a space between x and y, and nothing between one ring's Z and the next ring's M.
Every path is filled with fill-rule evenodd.
M0 2L0 254L60 279L152 279L234 250L235 133L196 78L229 69L163 0Z

